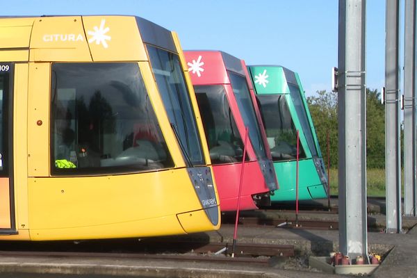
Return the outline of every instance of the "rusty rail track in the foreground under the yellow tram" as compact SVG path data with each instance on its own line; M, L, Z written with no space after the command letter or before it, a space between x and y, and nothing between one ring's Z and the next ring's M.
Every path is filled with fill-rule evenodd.
M104 242L105 244L105 242ZM0 256L26 256L26 257L59 257L59 258L114 258L114 259L141 259L141 260L170 260L170 261L197 261L207 263L236 263L252 265L272 266L277 257L294 256L293 245L270 245L270 244L252 244L239 243L234 250L234 256L231 256L231 245L226 243L206 243L195 247L195 243L183 241L167 241L162 240L159 246L154 246L156 242L149 240L146 243L146 251L138 248L133 250L113 250L107 252L92 252L92 245L79 248L78 252L73 251L51 251L54 248L40 248L40 251L22 250L3 250ZM89 246L89 247L88 247ZM30 248L30 245L27 245ZM39 246L38 246L39 247ZM62 249L60 245L57 249ZM74 248L71 248L74 249ZM164 250L163 253L158 253ZM186 250L186 252L184 252ZM170 252L170 253L167 253Z

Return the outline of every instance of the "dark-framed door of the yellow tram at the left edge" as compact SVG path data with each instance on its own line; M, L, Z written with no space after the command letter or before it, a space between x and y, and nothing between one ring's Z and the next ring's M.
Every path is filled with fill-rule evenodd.
M10 234L10 229L14 229L10 206L13 183L13 171L10 169L13 152L10 142L13 134L13 113L10 113L12 76L13 65L0 63L0 234Z

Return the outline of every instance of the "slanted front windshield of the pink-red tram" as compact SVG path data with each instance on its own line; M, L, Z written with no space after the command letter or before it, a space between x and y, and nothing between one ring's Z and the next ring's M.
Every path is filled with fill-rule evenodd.
M268 159L246 79L244 76L234 74L233 72L228 73L239 111L243 117L243 122L245 122L245 126L249 129L249 138L252 142L252 147L254 147L256 158L259 160Z

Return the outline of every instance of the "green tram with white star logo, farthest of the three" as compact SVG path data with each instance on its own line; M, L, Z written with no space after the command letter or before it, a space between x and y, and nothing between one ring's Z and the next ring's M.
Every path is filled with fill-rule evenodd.
M247 69L279 181L279 190L271 196L271 202L296 199L297 130L300 134L298 199L326 198L325 165L298 74L275 65L250 65Z

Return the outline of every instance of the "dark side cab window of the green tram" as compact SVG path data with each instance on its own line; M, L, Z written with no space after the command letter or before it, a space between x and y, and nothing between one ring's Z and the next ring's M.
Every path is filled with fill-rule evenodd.
M297 158L297 130L291 118L285 95L257 95L261 106L266 137L272 161L289 161ZM300 144L299 158L305 158Z

